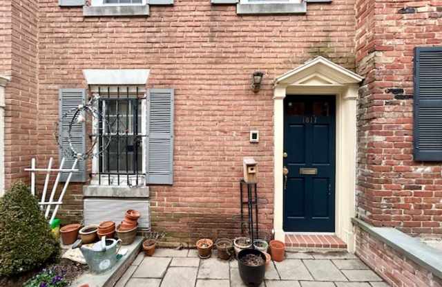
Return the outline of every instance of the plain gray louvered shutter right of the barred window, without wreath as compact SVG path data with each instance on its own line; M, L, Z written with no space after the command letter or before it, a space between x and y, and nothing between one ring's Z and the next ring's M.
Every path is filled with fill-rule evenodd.
M173 89L151 89L147 100L146 183L173 183Z

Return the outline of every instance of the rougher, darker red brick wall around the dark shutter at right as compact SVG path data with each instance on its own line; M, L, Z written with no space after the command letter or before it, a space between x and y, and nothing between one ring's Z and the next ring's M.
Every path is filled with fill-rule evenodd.
M412 75L414 47L441 45L442 1L359 0L356 15L358 216L441 237L441 163L412 157Z

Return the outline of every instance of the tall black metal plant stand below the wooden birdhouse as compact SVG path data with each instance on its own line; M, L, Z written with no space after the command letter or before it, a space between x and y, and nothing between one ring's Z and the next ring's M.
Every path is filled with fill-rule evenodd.
M243 201L243 191L244 187L247 187L247 201ZM241 234L244 234L244 228L242 223L244 223L244 205L247 205L248 223L250 231L250 239L252 242L255 237L258 238L259 228L258 228L258 192L256 183L246 183L244 179L240 180L240 203L241 203ZM254 208L253 208L254 207ZM253 211L254 209L254 211ZM254 213L254 214L253 214ZM253 215L255 216L255 222L253 222ZM253 229L256 232L253 232Z

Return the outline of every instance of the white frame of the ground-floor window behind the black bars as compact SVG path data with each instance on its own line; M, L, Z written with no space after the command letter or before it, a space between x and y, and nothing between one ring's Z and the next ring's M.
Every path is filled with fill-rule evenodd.
M126 86L124 86L122 89L120 89L121 91L125 91L126 90ZM103 93L102 96L104 96L105 93ZM98 93L94 93L93 96L98 95ZM144 98L146 98L146 93L144 93ZM121 96L120 96L121 97ZM116 98L116 94L115 93L111 93L111 98ZM147 132L147 100L142 100L140 101L141 103L141 133L146 135ZM93 127L97 128L98 127L98 119L94 119L93 122ZM98 130L95 129L93 131L93 133L98 134ZM98 146L95 145L94 147L94 154L97 154L98 152ZM146 185L146 176L145 174L147 173L146 171L146 160L147 160L147 138L144 136L142 137L142 171L140 175L138 175L138 186L144 186ZM92 160L92 172L93 172L93 177L91 180L91 185L104 185L104 186L108 186L108 175L106 174L102 174L100 176L101 180L99 180L99 160L100 157L99 156L95 156L93 157ZM119 176L119 185L118 185L118 176L117 175L111 175L111 186L124 186L127 187L128 185L132 185L135 186L136 184L136 178L135 176L129 176L129 183L127 183L127 176ZM101 183L100 183L101 181Z

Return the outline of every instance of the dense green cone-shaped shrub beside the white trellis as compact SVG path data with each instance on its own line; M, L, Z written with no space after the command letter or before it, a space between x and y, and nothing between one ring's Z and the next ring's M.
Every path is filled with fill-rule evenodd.
M24 183L15 183L0 199L0 275L11 276L42 266L59 255L37 199Z

